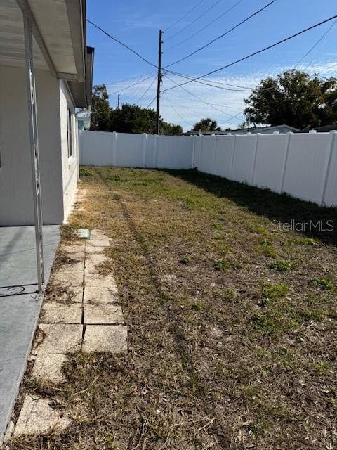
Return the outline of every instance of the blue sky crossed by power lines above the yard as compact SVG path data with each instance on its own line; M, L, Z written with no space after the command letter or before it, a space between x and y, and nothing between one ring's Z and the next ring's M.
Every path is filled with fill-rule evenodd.
M211 41L265 6L270 0L242 0L239 4L238 0L218 0L217 4L216 0L202 0L194 11L166 31L199 1L87 0L87 18L154 64L157 64L159 28L162 28L163 66L165 66ZM216 6L211 8L213 4ZM234 6L235 4L237 6ZM210 11L206 12L209 8ZM229 8L232 8L231 11L219 18ZM194 56L172 65L170 69L191 76L205 74L336 13L336 0L277 0L249 22ZM201 17L192 23L199 16ZM215 21L209 27L199 32L201 27L213 20ZM298 68L308 72L337 77L337 23L315 49L301 60L332 24L331 22L317 27L275 49L217 72L209 79L252 87L256 86L260 79L268 75L277 75L298 63ZM138 105L147 106L156 95L155 68L147 65L92 25L88 24L87 30L88 45L95 47L94 84L107 84L107 91L111 94L110 105L117 103L119 91L122 103L138 102ZM187 39L194 33L197 34ZM173 37L173 34L176 36ZM180 44L182 41L185 42ZM175 48L170 49L172 46ZM138 78L127 80L133 77ZM145 79L147 77L150 78ZM168 77L164 76L162 90L173 86L173 82L183 81L176 75L168 74ZM136 86L125 89L137 82L139 84ZM184 129L190 129L191 124L201 117L212 117L223 127L232 128L244 120L243 99L249 96L249 92L220 90L195 82L184 87L192 94L177 88L167 91L162 96L161 116L164 120L181 124ZM210 103L211 106L202 101ZM154 107L154 103L152 106Z

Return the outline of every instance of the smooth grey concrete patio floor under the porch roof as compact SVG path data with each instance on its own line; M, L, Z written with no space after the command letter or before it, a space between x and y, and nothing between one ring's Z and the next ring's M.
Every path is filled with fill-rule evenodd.
M45 278L48 281L60 240L58 226L44 226ZM41 309L37 293L33 226L0 228L0 442L25 372Z

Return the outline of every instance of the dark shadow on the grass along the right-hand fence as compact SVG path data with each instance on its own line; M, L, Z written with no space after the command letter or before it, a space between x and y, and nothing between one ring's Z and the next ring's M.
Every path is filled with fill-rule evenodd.
M246 210L267 217L282 224L296 224L300 235L317 238L329 245L337 245L337 209L319 207L289 195L273 193L267 189L255 188L204 174L196 169L164 170L164 172L202 188L218 198L227 198ZM333 228L333 229L332 229Z

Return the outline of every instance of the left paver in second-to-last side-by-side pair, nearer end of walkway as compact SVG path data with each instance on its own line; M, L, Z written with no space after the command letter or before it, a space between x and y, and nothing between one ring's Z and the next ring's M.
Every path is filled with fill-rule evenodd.
M82 305L81 303L44 303L40 321L41 323L81 323Z

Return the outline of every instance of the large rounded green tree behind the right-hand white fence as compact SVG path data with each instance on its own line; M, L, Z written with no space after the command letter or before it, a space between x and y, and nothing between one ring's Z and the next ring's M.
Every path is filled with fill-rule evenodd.
M337 120L337 79L287 70L263 79L244 100L249 123L305 129Z

